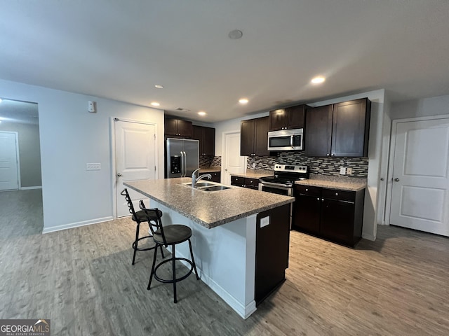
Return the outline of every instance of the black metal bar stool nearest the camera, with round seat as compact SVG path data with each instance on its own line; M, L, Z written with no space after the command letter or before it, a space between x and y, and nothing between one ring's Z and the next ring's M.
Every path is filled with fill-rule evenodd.
M192 230L187 225L180 225L180 224L173 224L173 225L166 225L162 226L161 222L161 211L159 209L146 209L145 204L143 204L142 201L140 201L140 209L142 211L145 211L145 214L148 216L148 223L150 230L152 230L153 239L156 243L156 246L168 246L170 245L171 250L171 258L163 260L159 262L158 265L156 265L156 253L157 248L154 250L154 256L153 256L153 265L152 265L152 272L149 275L149 281L148 281L148 287L147 290L150 289L152 285L152 279L154 276L154 279L157 281L163 282L163 283L173 283L173 302L177 302L176 298L176 283L179 281L182 281L187 278L190 274L192 274L192 271L195 271L196 280L199 280L198 272L196 272L196 265L194 260L194 253L192 251L192 243L190 242L190 237L192 237ZM154 219L155 218L155 219ZM175 245L181 244L184 241L189 241L189 250L190 250L190 256L192 260L186 259L186 258L176 258L175 257ZM176 278L176 267L175 267L175 261L176 260L184 260L185 262L188 262L190 264L190 269L187 274L181 276L180 278ZM162 279L159 276L157 276L156 271L159 267L161 267L166 262L172 263L172 270L173 270L173 278L172 279Z

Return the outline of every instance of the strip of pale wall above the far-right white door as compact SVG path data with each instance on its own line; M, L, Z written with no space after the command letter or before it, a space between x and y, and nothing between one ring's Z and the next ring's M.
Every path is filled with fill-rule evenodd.
M409 100L391 105L391 119L449 114L449 95Z

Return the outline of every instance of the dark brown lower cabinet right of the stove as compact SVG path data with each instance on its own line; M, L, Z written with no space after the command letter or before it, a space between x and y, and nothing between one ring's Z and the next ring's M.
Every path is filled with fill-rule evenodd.
M360 241L365 189L295 186L293 228L354 247Z

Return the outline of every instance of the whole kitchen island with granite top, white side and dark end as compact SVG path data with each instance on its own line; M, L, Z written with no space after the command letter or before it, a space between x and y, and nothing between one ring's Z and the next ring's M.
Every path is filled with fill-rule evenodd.
M182 184L190 181L143 180L124 185L149 197L150 207L163 211L163 225L179 223L192 229L201 280L247 318L284 280L290 203L295 199L239 187L206 192ZM177 256L189 256L187 244L176 251Z

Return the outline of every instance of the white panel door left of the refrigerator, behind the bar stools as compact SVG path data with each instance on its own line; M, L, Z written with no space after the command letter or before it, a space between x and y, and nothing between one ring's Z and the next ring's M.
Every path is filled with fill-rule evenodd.
M125 188L123 181L156 179L156 125L130 121L114 121L116 158L116 209L117 217L129 215L125 197L120 195ZM128 188L135 210L139 200L148 199Z

